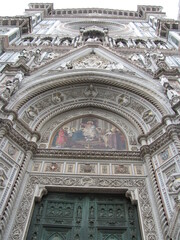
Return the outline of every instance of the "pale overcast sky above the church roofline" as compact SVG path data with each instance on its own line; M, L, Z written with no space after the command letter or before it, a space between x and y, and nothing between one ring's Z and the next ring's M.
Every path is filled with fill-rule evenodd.
M95 7L134 11L137 5L158 5L163 6L167 17L177 19L179 0L1 0L0 16L21 15L30 2L53 2L55 9Z

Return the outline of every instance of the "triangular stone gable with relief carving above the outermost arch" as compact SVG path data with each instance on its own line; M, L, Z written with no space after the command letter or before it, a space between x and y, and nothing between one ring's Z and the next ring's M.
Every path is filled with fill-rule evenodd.
M45 67L36 70L36 76L58 74L72 70L104 70L119 72L123 74L136 75L144 77L145 73L140 71L128 60L114 54L103 46L94 44L85 45L75 49L56 59L56 61L47 64Z

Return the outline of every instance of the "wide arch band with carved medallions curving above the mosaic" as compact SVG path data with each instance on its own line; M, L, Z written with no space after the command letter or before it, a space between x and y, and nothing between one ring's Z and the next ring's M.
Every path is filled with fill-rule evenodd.
M144 98L116 86L99 83L62 86L55 91L51 89L25 103L18 115L32 130L40 131L55 116L85 108L117 114L131 122L139 134L147 132L162 119L157 108Z

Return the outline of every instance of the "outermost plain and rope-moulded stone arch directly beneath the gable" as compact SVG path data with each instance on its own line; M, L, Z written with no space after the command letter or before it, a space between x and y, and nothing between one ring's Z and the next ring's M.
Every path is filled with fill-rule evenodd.
M146 89L145 85L141 86L137 82L135 83L132 79L132 76L120 76L120 74L116 73L111 73L109 75L109 73L107 74L104 71L99 71L99 73L94 73L94 71L81 71L81 73L77 73L77 71L71 71L70 75L68 74L67 76L60 74L53 77L42 77L38 80L38 82L34 81L34 84L36 85L35 88L34 84L32 85L32 83L30 83L27 84L25 88L22 87L19 91L17 91L17 93L11 99L12 101L9 102L7 109L13 108L14 111L18 111L27 101L45 91L48 91L49 89L77 83L100 83L110 85L112 87L119 87L120 89L135 93L149 101L157 108L162 116L170 114L166 108L166 105L162 105L160 103L165 101L165 97L160 93L158 95L156 90L150 90L149 88ZM18 95L22 96L21 99L18 99Z

